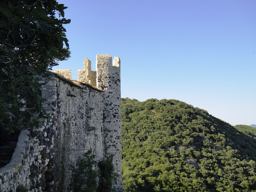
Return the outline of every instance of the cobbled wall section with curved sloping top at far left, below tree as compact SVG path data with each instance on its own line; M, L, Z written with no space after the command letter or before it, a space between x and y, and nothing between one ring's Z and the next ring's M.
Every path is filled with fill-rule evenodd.
M28 128L20 133L18 143L9 164L0 169L0 191L16 192L18 185L26 186L29 192L44 191L46 188L45 172L48 162L52 159L50 149L54 146L54 134L56 126L52 123L54 116L54 101L56 91L52 86L55 77L48 79L42 84L42 95L47 92L48 101L45 103L46 110L51 119L45 119L41 126L35 130Z

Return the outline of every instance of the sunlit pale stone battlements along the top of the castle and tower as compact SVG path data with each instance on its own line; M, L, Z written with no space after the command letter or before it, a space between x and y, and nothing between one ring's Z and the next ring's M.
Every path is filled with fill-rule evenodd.
M55 73L63 75L65 78L71 79L71 70L54 70ZM110 75L111 74L111 75ZM96 71L92 71L91 61L84 58L84 69L78 70L78 81L88 83L94 87L104 89L100 82L107 81L109 78L120 79L120 58L116 56L113 60L111 55L96 56ZM119 80L120 81L120 80Z

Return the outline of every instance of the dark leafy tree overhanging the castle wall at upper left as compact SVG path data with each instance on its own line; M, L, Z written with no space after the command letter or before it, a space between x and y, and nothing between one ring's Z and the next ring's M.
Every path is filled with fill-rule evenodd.
M56 0L0 2L0 133L37 126L46 112L37 76L70 57ZM65 42L67 48L63 48Z

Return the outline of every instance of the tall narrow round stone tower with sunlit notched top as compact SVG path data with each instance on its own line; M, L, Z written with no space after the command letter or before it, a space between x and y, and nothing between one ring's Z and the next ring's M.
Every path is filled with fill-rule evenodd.
M111 55L97 55L97 88L103 94L103 127L106 154L113 158L113 165L119 177L116 187L124 191L122 184L122 132L121 132L121 87L120 58Z

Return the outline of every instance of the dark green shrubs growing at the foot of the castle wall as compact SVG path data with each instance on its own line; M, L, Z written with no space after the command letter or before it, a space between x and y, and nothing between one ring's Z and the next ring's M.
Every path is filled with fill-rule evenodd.
M112 158L106 157L98 163L89 150L70 165L71 179L69 190L72 192L113 192L116 181Z

